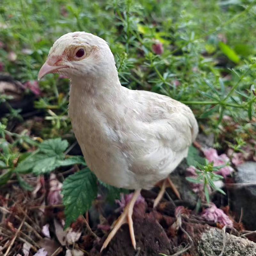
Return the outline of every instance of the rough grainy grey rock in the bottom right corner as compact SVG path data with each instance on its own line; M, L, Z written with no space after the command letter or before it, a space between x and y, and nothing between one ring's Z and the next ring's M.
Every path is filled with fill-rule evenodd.
M219 256L223 248L222 231L210 228L201 236L197 249L200 256ZM255 256L256 244L252 241L226 233L223 256Z

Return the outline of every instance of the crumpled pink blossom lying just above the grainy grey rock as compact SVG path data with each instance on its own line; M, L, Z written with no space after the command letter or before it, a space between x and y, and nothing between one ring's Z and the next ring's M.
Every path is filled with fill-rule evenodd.
M211 207L205 209L202 212L202 217L206 220L214 221L215 223L233 227L232 220L230 220L228 215L226 215L221 209L218 209L215 204L212 204Z

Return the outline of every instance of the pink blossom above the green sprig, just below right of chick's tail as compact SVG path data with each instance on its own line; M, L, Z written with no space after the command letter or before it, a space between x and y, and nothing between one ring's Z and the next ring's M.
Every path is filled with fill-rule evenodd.
M205 149L204 156L207 158L209 162L213 161L213 166L220 166L220 165L225 165L230 163L229 158L226 154L222 154L218 156L217 150L214 148ZM222 167L216 173L226 178L233 171L234 171L233 168L227 165L225 167Z

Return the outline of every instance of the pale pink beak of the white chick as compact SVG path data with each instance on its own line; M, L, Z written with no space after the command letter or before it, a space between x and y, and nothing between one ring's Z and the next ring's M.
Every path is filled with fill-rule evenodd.
M45 61L44 65L40 68L37 79L40 80L43 76L49 73L55 73L60 68L67 68L65 65L58 65L62 62L61 57L50 56Z

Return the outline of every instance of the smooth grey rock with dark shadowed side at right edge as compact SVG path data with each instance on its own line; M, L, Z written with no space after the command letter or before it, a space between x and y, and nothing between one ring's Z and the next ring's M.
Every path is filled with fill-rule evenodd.
M237 166L236 183L256 183L256 162L245 162ZM243 208L242 222L248 230L256 229L256 186L236 186L229 190L231 210L237 220Z

